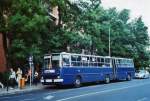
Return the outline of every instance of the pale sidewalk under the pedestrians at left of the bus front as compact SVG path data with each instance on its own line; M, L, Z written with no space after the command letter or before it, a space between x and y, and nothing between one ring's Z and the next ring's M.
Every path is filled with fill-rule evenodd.
M9 87L8 91L7 91L7 88L0 88L0 96L31 92L31 91L40 90L40 89L43 89L43 88L44 88L44 86L40 83L37 84L37 85L31 85L31 86L26 85L22 89L20 89L18 87L15 87L14 89L10 89L10 87Z

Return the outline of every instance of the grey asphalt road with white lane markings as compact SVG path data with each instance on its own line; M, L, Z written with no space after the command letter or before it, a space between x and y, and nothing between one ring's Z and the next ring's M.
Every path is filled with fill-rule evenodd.
M86 85L81 88L46 88L2 96L0 101L150 101L150 79Z

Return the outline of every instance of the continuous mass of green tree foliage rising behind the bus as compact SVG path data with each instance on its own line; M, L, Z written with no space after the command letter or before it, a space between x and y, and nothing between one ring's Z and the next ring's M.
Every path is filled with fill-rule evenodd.
M50 7L55 6L59 11L58 25L48 14ZM82 49L106 56L110 29L111 56L134 58L137 67L149 66L147 27L141 17L130 21L127 9L105 10L100 0L74 3L69 0L13 0L11 6L6 7L1 6L1 12L3 9L10 12L8 26L4 26L6 21L0 16L0 31L12 33L9 56L14 64L16 61L24 63L29 54L41 61L45 53L81 53Z

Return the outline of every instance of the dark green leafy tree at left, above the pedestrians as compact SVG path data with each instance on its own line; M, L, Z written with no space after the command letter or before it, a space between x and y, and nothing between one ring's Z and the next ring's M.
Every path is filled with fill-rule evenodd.
M14 0L11 13L8 29L13 33L9 49L12 63L23 64L29 54L39 60L48 47L45 40L53 26L44 5L41 0Z

